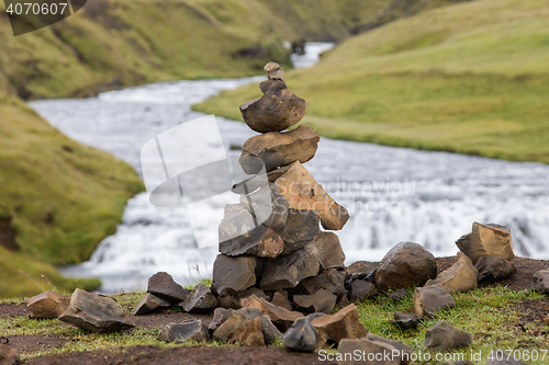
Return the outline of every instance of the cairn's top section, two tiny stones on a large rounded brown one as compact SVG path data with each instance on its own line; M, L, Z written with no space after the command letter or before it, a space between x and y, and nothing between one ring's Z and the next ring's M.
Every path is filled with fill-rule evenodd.
M284 70L277 62L264 68L267 80L259 84L264 95L240 105L244 122L255 132L280 132L300 122L305 115L306 103L296 96L284 82Z

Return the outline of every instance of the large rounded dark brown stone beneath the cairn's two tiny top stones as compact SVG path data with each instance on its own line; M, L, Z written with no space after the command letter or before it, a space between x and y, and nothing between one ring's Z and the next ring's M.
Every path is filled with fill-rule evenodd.
M240 105L244 122L259 133L284 130L305 115L306 102L290 89L267 91L260 99Z

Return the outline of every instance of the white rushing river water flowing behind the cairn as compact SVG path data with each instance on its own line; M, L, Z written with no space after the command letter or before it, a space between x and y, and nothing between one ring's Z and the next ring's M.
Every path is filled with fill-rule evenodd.
M326 48L309 44L303 62L294 61L312 66ZM163 82L30 104L69 137L115 155L141 173L139 150L147 140L204 115L192 112L192 104L264 79ZM242 146L255 133L244 123L217 121L227 153L238 156L231 146ZM473 221L506 225L517 254L549 259L548 166L322 138L305 167L351 214L337 232L347 263L380 260L401 241L451 255L458 251L455 241ZM202 218L219 225L209 221L208 212ZM128 201L116 233L99 244L90 261L65 274L98 276L101 292L112 293L143 288L158 271L180 283L209 277L215 255L215 248L198 249L184 207L155 207L143 193Z

